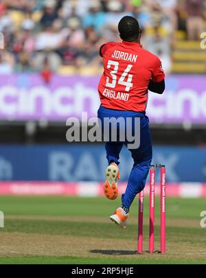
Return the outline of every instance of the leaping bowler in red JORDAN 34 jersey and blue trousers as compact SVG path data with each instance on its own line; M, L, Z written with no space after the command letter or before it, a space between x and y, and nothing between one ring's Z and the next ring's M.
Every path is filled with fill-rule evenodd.
M162 94L165 90L165 74L159 58L141 47L141 28L135 18L124 16L119 21L118 30L122 43L106 43L100 47L104 73L98 86L101 101L98 118L103 122L104 118L130 117L132 129L135 128L135 117L140 118L140 146L129 149L134 165L126 192L122 194L121 207L110 216L113 222L125 229L130 205L144 189L152 161L149 119L146 116L148 89ZM106 142L108 167L105 172L104 194L111 200L118 195L119 153L123 145L128 146L127 139Z

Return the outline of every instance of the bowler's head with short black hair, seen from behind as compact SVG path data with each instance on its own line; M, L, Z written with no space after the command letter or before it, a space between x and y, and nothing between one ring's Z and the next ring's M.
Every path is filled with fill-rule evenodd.
M122 40L133 42L140 38L141 29L137 19L133 16L124 16L118 24L119 36Z

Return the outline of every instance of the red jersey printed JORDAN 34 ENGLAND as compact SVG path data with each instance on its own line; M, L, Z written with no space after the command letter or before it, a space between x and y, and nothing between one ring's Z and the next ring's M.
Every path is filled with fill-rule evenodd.
M150 79L161 82L165 74L157 56L139 43L106 43L100 48L104 73L98 91L102 106L115 110L146 110Z

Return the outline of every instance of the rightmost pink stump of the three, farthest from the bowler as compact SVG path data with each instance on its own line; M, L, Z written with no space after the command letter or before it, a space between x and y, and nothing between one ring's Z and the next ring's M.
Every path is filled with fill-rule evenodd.
M165 253L165 166L161 166L160 181L161 216L160 216L160 251Z

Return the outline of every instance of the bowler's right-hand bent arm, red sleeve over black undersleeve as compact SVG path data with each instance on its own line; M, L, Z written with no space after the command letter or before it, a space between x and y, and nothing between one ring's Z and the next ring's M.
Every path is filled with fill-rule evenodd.
M165 73L161 66L161 60L156 56L152 64L152 78L148 90L162 94L165 91Z

